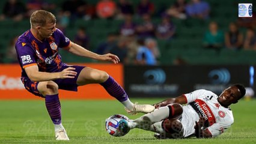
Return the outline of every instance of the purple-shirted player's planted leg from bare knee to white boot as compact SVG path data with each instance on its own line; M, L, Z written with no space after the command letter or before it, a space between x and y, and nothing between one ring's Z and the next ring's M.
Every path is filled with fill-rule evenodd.
M56 140L69 140L65 128L61 124L61 103L59 101L58 85L52 81L40 82L37 88L41 94L45 95L45 105L54 124Z

